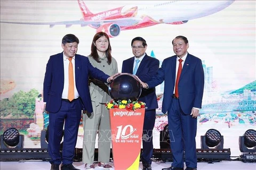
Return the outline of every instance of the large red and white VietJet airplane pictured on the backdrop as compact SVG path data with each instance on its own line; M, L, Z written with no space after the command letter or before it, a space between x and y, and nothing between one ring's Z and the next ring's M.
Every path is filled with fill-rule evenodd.
M163 1L152 5L121 6L108 11L92 13L84 1L78 0L79 8L83 17L77 21L61 22L7 22L12 24L34 25L71 25L79 24L81 27L89 26L97 32L106 32L109 37L116 37L121 30L131 30L150 27L156 24L184 24L189 20L217 13L235 0L229 1Z

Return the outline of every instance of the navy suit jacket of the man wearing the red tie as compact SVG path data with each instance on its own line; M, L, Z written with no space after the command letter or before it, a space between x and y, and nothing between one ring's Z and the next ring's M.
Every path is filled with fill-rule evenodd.
M162 112L166 113L171 106L175 86L177 56L165 58L157 75L146 81L149 88L164 81L164 98ZM183 65L178 84L180 107L185 114L190 114L193 107L201 108L204 92L204 69L202 61L188 53Z

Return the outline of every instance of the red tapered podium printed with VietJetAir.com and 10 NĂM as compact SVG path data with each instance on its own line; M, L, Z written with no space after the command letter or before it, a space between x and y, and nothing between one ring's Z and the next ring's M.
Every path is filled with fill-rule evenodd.
M139 169L145 108L111 108L109 112L115 170Z

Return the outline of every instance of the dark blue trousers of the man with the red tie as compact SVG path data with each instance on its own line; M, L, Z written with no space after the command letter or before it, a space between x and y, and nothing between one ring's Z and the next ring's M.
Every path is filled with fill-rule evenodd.
M193 118L190 113L186 115L182 112L179 99L172 99L168 110L168 126L173 155L172 166L183 168L183 152L185 151L186 166L196 168L197 118Z

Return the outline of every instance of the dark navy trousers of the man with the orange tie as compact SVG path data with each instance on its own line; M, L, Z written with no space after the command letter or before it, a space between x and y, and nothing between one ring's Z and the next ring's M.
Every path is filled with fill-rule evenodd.
M70 103L62 100L60 111L49 114L49 143L48 150L51 164L72 164L77 141L77 133L81 120L81 100ZM63 125L64 137L62 155L60 142L62 140Z

